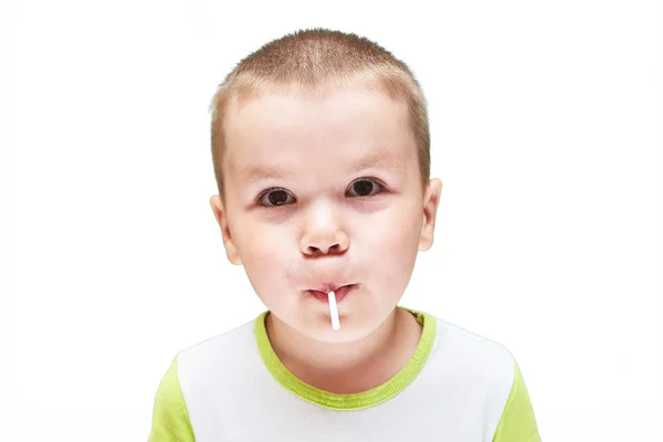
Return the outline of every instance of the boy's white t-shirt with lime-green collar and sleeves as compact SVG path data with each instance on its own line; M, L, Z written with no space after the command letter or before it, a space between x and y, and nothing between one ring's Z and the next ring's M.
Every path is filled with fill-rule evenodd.
M392 379L356 394L292 375L270 345L269 312L183 350L157 391L149 442L539 442L512 354L410 312L423 325L414 355Z

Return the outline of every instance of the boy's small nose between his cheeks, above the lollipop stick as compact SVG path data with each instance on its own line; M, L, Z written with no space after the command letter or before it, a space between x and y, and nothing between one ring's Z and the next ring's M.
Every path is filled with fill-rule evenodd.
M349 238L340 228L338 215L332 208L314 208L307 221L299 243L302 253L319 256L344 253L348 249Z

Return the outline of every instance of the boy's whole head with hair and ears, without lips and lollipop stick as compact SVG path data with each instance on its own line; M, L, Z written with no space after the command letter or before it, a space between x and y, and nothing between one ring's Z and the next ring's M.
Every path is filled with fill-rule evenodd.
M442 186L409 69L357 35L303 31L244 59L212 114L229 260L277 320L326 341L371 333L432 244ZM309 292L326 284L354 284L339 332Z

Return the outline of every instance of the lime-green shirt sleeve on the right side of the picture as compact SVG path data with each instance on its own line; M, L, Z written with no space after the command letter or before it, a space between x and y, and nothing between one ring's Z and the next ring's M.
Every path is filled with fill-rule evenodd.
M512 391L495 430L493 442L540 442L534 409L518 364L514 360L515 377Z

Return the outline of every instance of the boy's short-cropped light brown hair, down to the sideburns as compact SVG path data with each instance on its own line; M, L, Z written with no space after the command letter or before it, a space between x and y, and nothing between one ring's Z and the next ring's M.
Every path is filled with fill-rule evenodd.
M271 87L291 87L324 95L362 77L406 104L419 154L421 180L430 178L430 133L425 98L406 63L377 43L354 33L301 30L263 45L240 61L221 83L210 104L212 162L219 194L224 199L224 116L232 101L245 103Z

